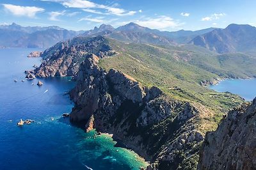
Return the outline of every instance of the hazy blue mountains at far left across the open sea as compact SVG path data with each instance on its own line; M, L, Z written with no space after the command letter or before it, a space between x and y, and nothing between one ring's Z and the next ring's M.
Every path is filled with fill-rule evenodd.
M0 26L0 46L46 48L81 33L81 31L68 31L58 26L22 27L13 23Z

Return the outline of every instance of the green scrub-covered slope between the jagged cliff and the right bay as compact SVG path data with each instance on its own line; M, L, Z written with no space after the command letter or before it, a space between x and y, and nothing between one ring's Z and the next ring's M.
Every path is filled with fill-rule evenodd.
M223 113L243 100L231 93L218 93L202 87L199 83L220 76L228 77L230 73L237 77L256 75L254 68L243 70L243 73L241 69L230 71L228 69L240 66L241 63L229 63L232 57L220 62L220 56L198 47L194 50L193 47L156 47L111 39L109 43L119 54L101 59L102 68L115 68L131 75L144 86L157 86L170 97L204 105L214 115L200 120L203 124L212 124L202 125L203 132L216 128ZM252 62L250 65L256 63L255 59Z

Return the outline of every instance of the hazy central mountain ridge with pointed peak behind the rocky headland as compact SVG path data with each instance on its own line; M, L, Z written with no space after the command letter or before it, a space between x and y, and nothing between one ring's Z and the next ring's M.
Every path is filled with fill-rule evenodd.
M102 24L102 26L95 27L90 31L83 33L83 36L97 36L105 35L110 38L115 38L122 42L127 43L149 43L154 45L177 45L177 43L189 42L192 38L208 31L213 28L204 29L200 31L159 31L157 29L150 29L148 27L140 26L134 22L120 26L114 29L110 25Z

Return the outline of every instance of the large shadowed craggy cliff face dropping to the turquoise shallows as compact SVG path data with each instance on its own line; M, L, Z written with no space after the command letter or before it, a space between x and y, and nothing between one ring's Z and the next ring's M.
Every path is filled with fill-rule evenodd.
M106 72L98 62L90 54L81 63L77 85L70 91L75 102L70 121L83 123L86 131L93 126L113 133L152 162L148 169L184 169L184 164L195 169L204 134L193 121L200 118L201 110L167 97L156 87L145 88L122 72ZM190 162L190 157L195 161Z

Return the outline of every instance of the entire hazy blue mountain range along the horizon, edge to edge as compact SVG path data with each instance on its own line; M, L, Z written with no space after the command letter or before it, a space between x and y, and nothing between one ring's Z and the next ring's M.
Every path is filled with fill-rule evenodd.
M161 46L191 44L219 54L244 52L255 56L256 27L230 24L225 29L210 27L198 31L159 31L133 22L114 28L102 24L89 31L70 31L58 26L22 27L15 23L0 26L0 47L51 47L75 36L106 36L126 43Z

